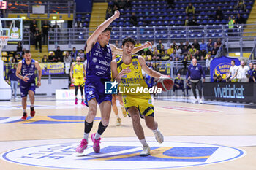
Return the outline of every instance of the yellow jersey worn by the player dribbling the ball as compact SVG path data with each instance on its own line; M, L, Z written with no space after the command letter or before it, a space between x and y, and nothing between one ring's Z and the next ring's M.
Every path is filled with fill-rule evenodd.
M132 62L129 65L123 63L122 56L116 58L116 63L118 73L127 67L131 70L129 74L121 78L121 83L118 86L119 93L138 97L148 96L149 93L144 90L144 88L148 88L148 85L143 79L138 55L132 55Z

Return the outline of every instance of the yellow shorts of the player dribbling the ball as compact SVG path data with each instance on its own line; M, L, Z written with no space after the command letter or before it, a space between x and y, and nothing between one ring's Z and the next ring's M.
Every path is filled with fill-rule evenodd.
M154 117L154 106L152 104L151 96L138 97L123 95L123 102L126 110L128 110L129 107L137 107L140 112L140 117L142 118L143 116Z

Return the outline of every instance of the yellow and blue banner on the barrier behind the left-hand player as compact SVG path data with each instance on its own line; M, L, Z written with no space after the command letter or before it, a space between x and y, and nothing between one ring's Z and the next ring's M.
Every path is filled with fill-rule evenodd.
M64 74L64 63L40 63L42 75Z

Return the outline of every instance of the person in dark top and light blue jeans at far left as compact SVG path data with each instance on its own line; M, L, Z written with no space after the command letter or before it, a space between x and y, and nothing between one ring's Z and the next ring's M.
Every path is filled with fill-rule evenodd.
M14 101L17 98L17 88L18 88L18 77L16 76L16 69L17 69L17 64L13 65L13 68L10 69L8 72L8 80L10 79L11 82L11 88L12 88L12 101Z

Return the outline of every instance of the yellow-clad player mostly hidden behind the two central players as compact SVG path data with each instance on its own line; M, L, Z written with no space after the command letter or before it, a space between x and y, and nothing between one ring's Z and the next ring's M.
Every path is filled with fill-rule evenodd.
M120 57L120 55L114 54L112 56L112 59L115 60L118 57ZM121 105L121 110L123 112L124 117L127 117L127 111L124 108L123 98L121 97L121 95L120 94L118 94L118 95L113 94L113 96L112 96L112 109L113 109L113 111L114 111L114 113L115 113L115 115L117 117L116 125L119 126L119 125L121 125L121 118L118 115L118 109L117 109L117 106L116 106L116 96L118 97L118 101L119 101L119 103Z

